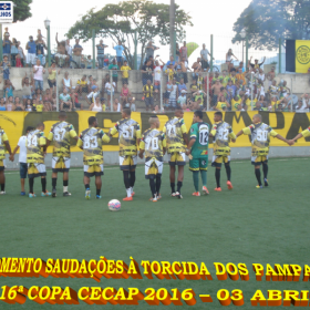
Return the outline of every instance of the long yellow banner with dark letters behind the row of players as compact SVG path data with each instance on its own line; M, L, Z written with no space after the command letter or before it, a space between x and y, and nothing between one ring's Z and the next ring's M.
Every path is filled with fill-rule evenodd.
M204 114L204 121L208 124L213 124L215 112L206 112ZM225 122L232 126L235 133L239 132L246 126L251 124L251 118L256 112L227 112L224 113ZM269 124L275 131L286 138L292 138L302 130L309 127L310 113L268 113L260 112L262 116L262 122ZM148 118L154 115L153 113L140 113L133 112L132 118L140 123L142 132L148 128ZM184 121L189 130L193 123L194 112L184 113ZM76 133L80 134L83 130L89 127L87 120L90 116L96 116L99 121L99 126L103 128L104 132L114 126L114 124L121 120L121 113L96 113L90 111L79 111L68 113L68 122L71 123ZM157 114L161 121L161 130L165 123L174 116L174 113ZM1 112L0 113L0 127L3 128L9 137L11 147L14 148L21 135L24 134L27 126L37 126L39 122L45 124L45 135L49 134L51 126L58 122L56 112ZM107 145L104 145L103 151L113 152L118 151L118 137L115 135ZM210 141L211 142L211 141ZM75 141L72 141L72 152L80 152L81 149L75 146ZM231 147L245 147L250 146L249 136L240 136L236 143L231 143ZM286 143L271 138L271 146L287 146ZM310 137L300 138L294 145L298 146L310 146ZM49 147L48 153L52 152L52 146Z

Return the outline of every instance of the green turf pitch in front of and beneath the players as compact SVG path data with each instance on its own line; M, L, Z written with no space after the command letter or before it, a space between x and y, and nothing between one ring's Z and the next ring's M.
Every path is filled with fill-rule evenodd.
M144 167L137 167L136 196L134 202L123 203L118 213L107 209L107 202L125 197L123 176L118 167L105 167L103 176L103 199L94 198L94 183L91 184L92 199L84 199L83 172L72 169L69 188L71 197L21 197L18 172L7 172L7 195L0 196L1 257L122 259L130 264L132 256L141 260L204 261L213 281L188 280L107 280L101 283L92 279L3 278L2 286L61 286L79 290L84 286L114 288L193 288L197 303L194 307L169 309L219 309L216 293L219 289L241 289L245 296L244 309L251 308L250 298L261 289L267 298L268 289L309 290L309 282L261 282L255 280L251 264L309 264L309 159L288 158L269 162L270 186L256 189L254 167L249 161L231 163L234 189L226 188L223 169L223 192L215 193L214 168L209 167L209 196L192 197L194 192L192 173L186 166L183 186L184 199L169 196L168 166L163 174L163 199L154 204ZM60 175L61 176L61 175ZM92 180L93 182L93 180ZM28 189L28 186L27 186ZM34 192L41 190L35 179ZM51 172L48 172L48 189L51 190ZM58 182L58 194L62 182ZM217 280L213 262L245 262L250 280ZM143 268L141 268L143 270ZM198 294L209 293L213 303L203 303ZM86 309L90 306L40 306L28 300L24 304L7 304L0 301L0 309ZM232 303L229 306L232 306ZM99 306L93 306L99 309ZM104 306L105 309L156 309L141 301L140 306ZM279 307L282 309L283 307ZM163 309L163 304L158 309Z

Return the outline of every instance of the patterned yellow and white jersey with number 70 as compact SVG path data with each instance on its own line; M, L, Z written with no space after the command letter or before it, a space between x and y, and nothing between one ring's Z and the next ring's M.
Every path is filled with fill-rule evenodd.
M156 158L163 162L163 148L166 147L166 136L156 128L149 128L144 132L141 138L140 148L145 149L145 161Z

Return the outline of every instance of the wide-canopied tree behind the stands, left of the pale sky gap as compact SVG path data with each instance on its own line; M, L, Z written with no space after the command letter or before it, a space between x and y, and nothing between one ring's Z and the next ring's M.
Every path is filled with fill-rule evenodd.
M183 40L184 27L193 25L188 13L176 6L176 38ZM66 35L87 41L92 30L97 38L111 38L115 44L118 40L125 45L125 56L128 64L134 65L134 31L137 32L137 43L141 45L142 59L149 40L159 38L161 44L169 44L169 6L153 3L147 0L132 0L118 4L106 4L99 11L91 9L80 21L70 28Z

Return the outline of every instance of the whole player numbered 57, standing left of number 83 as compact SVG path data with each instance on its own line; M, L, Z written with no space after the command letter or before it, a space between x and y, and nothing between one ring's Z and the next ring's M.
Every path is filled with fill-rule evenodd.
M52 158L52 197L56 197L58 173L63 173L63 196L71 196L68 192L70 169L70 138L79 140L72 124L66 122L66 113L59 113L59 122L52 125L48 136L46 147L53 142Z

